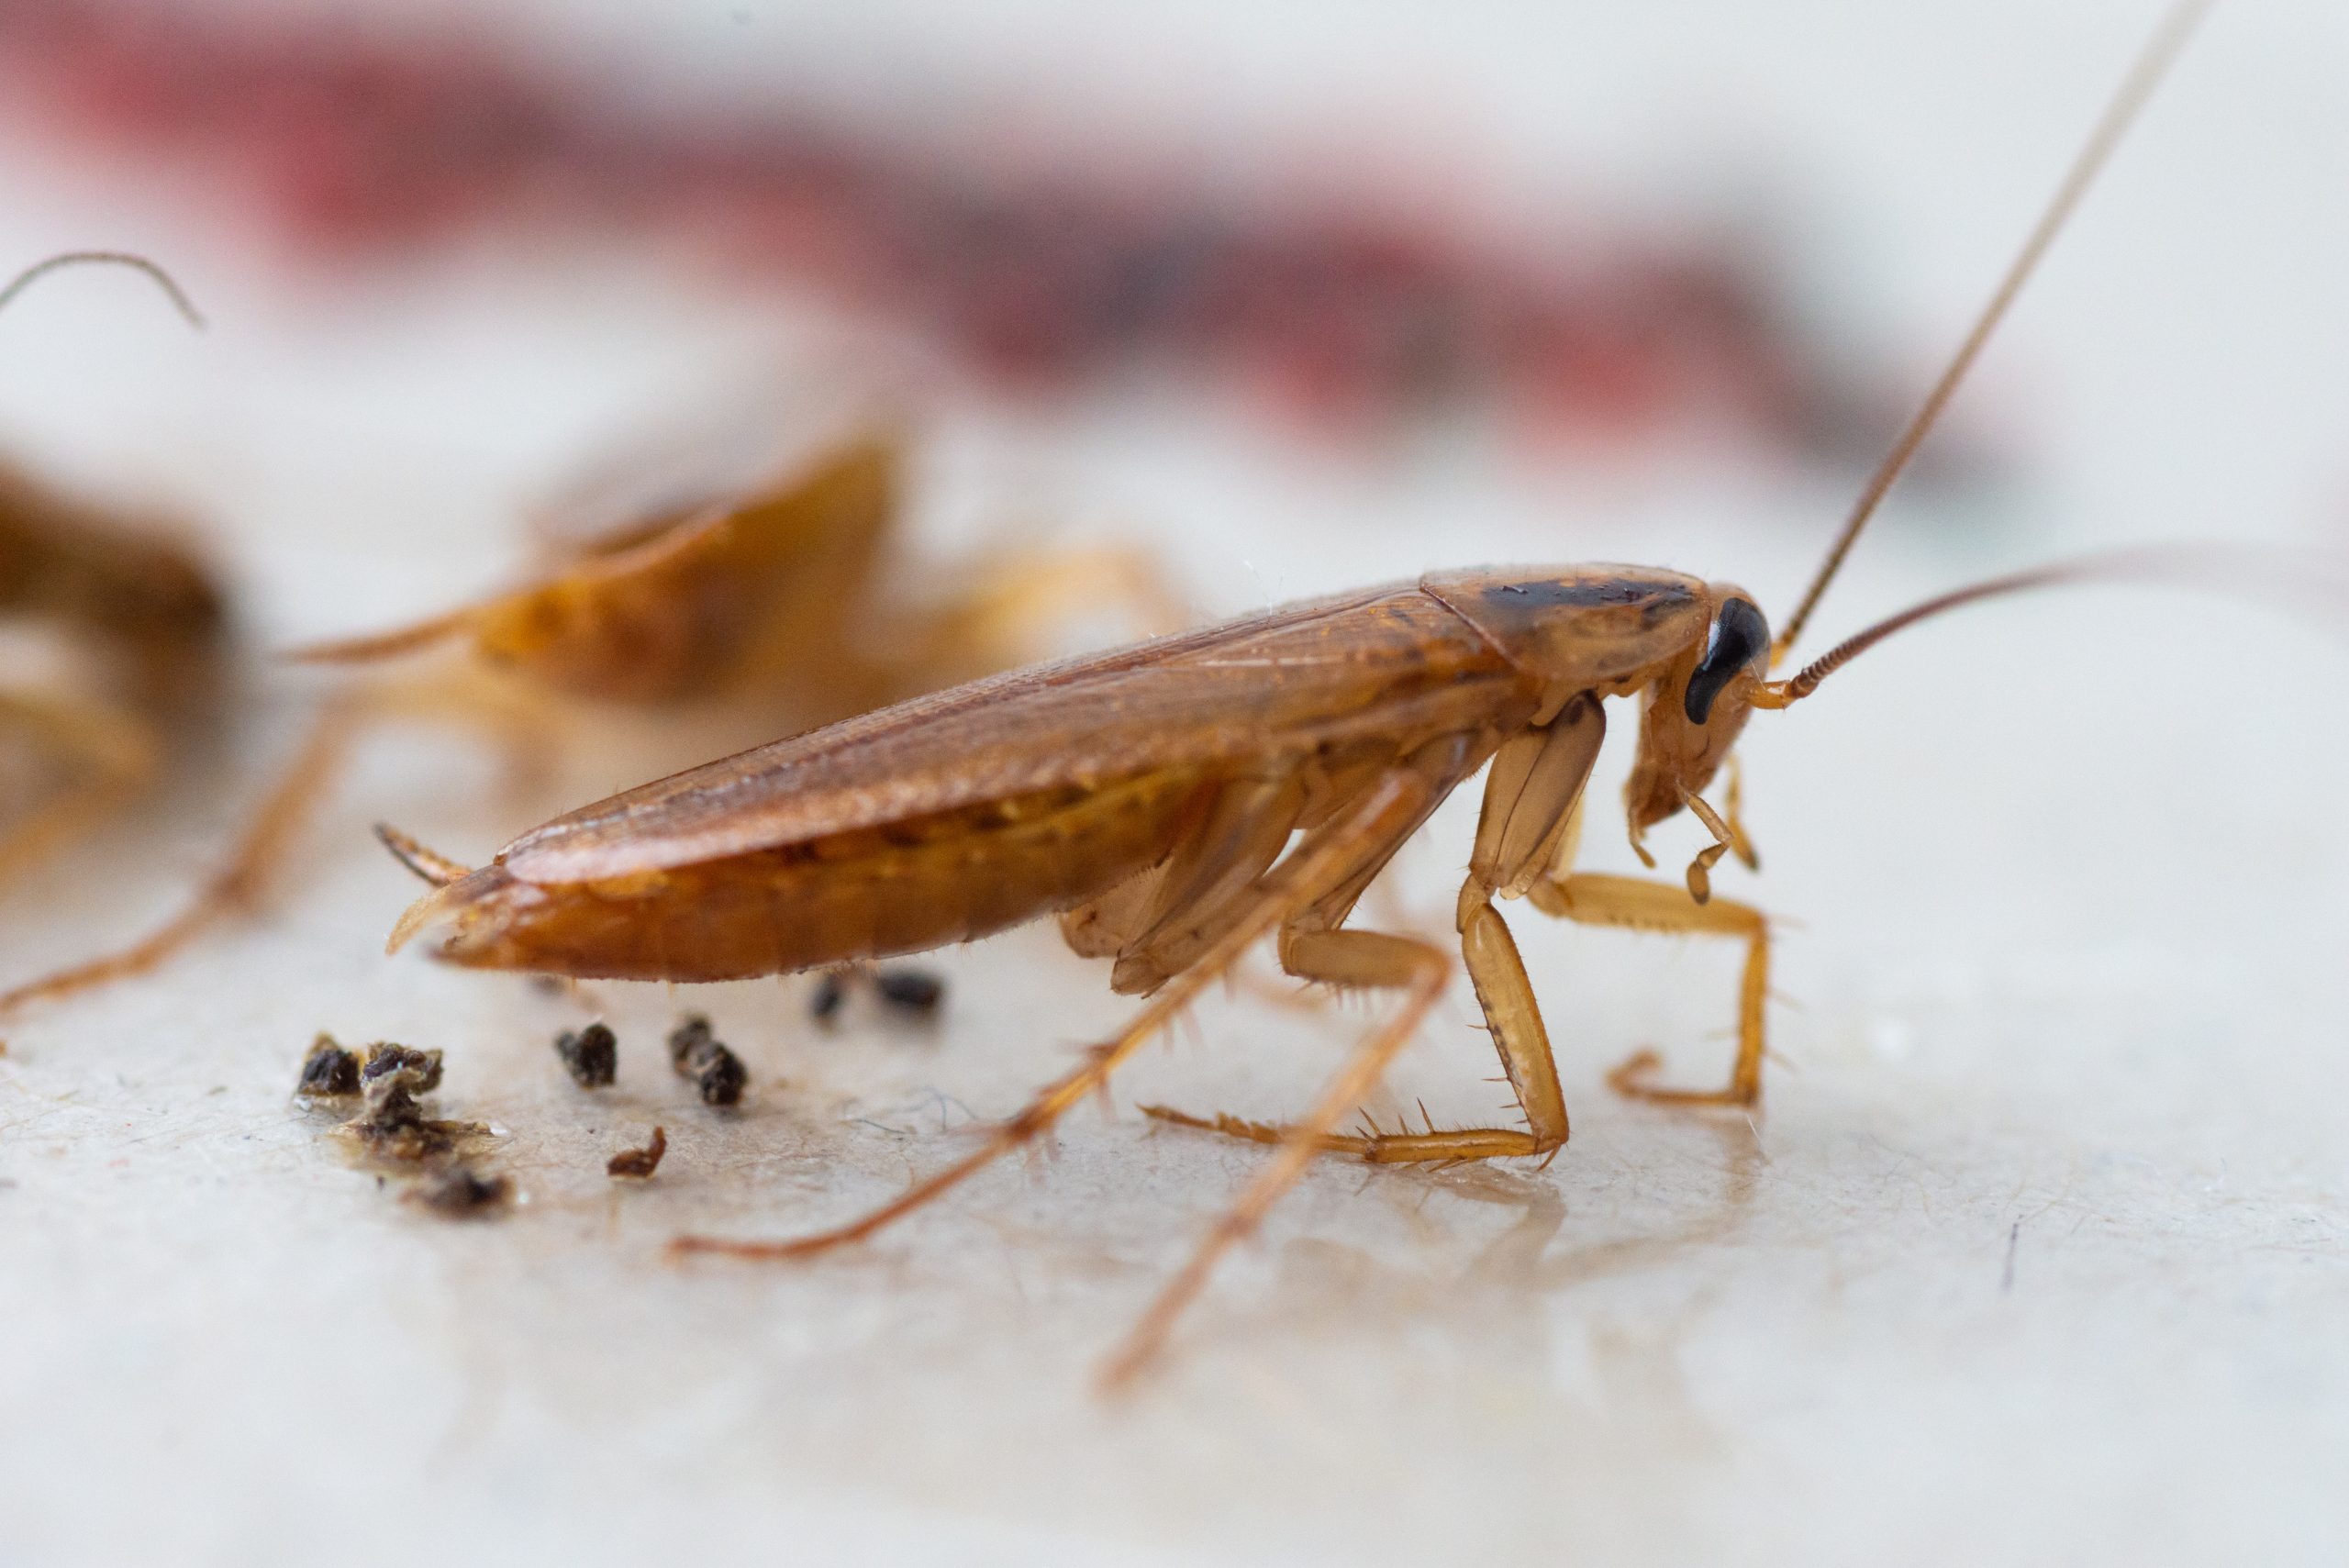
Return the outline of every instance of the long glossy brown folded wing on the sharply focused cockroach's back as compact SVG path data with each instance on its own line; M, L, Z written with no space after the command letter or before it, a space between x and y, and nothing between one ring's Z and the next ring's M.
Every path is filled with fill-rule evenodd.
M526 883L620 878L1177 765L1365 737L1400 749L1532 707L1487 636L1416 584L1391 584L759 746L557 817L498 864Z

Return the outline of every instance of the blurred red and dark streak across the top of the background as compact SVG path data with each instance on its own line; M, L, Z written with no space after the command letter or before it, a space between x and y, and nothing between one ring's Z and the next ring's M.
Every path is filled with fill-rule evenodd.
M994 390L1172 369L1337 434L1470 408L1534 446L1698 425L1872 460L1886 437L1889 376L1828 350L1736 223L1461 211L1459 190L1409 176L1245 192L1177 157L1085 157L1092 122L1055 162L923 122L918 101L890 129L813 96L662 103L644 61L597 70L580 40L566 66L449 16L381 23L14 0L0 82L61 155L176 167L207 211L228 195L315 265L465 232L651 235L665 258L909 333Z

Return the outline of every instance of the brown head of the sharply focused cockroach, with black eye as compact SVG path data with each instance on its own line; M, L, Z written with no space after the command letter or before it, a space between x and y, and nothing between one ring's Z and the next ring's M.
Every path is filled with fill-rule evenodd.
M1727 582L1705 584L1705 592L1712 599L1705 641L1647 688L1640 758L1623 784L1633 833L1663 822L1712 782L1769 674L1769 620L1752 594Z

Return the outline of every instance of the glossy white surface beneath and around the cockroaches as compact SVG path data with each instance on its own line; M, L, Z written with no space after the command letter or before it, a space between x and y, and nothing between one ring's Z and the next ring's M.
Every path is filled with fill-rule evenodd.
M1137 38L1214 54L1229 19L1196 9ZM1233 49L1271 61L1233 75L1304 70L1292 33L1325 28L1344 68L1297 77L1294 113L1433 73L1536 167L1670 164L1715 134L1680 117L1705 103L1715 146L1832 214L1835 284L1926 357L2149 23L1621 9L1487 5L1470 28L1322 7ZM1012 40L972 70L1052 35L1036 7L1005 16L965 19ZM2337 12L2222 7L1985 366L1978 415L2022 439L2022 474L1896 507L1823 638L2091 542L2340 540L2344 80ZM169 249L106 190L7 167L9 254ZM200 340L113 279L26 300L0 322L0 418L19 451L221 516L263 638L496 580L512 505L571 448L747 357L726 300L625 263L559 286L453 265L371 317L272 298L221 254L186 270L216 317ZM933 498L1149 530L1212 610L1562 556L1727 575L1781 615L1846 500L1842 477L1694 455L1360 472L1231 437L1132 408L949 415ZM9 1030L0 1561L2337 1561L2344 676L2302 622L2112 589L1921 629L1757 716L1766 876L1722 887L1785 915L1797 1007L1771 1026L1799 1070L1771 1073L1766 1117L1597 1082L1640 1042L1710 1077L1734 955L1513 908L1569 1150L1541 1174L1320 1164L1120 1406L1085 1394L1090 1361L1257 1150L1083 1113L1052 1157L857 1256L658 1261L686 1225L794 1232L935 1169L968 1113L1010 1110L1123 1016L1099 967L1045 930L944 955L923 1038L869 1016L822 1035L796 981L573 1002L385 962L411 885L362 824L463 857L517 826L463 742L385 735L268 920ZM251 765L296 714L280 695L251 725ZM181 798L12 890L7 974L167 906L233 810ZM1398 871L1423 925L1470 812L1463 791ZM1611 831L1590 840L1623 869ZM1661 847L1677 864L1694 836ZM684 1005L749 1061L735 1117L658 1066ZM597 1099L547 1052L587 1007L622 1035ZM1485 1115L1468 1009L1402 1061L1398 1103ZM1116 1099L1294 1110L1360 1026L1243 993ZM444 1115L507 1129L529 1204L446 1225L336 1160L287 1101L317 1028L446 1049ZM660 1178L608 1190L601 1160L655 1120Z

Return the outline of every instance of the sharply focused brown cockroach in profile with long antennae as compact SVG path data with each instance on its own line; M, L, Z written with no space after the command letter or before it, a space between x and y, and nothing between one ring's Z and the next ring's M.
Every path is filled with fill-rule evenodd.
M406 911L390 946L451 927L439 955L458 965L723 981L916 953L1057 913L1078 953L1116 960L1113 991L1151 995L1128 1028L982 1148L874 1214L796 1242L674 1244L747 1258L862 1239L1043 1136L1261 937L1278 939L1283 969L1299 979L1402 991L1395 1016L1297 1124L1149 1108L1273 1143L1278 1155L1109 1361L1111 1383L1158 1347L1214 1258L1257 1228L1315 1155L1456 1162L1553 1157L1564 1145L1550 1042L1496 901L1525 897L1583 925L1741 941L1729 1082L1661 1087L1644 1054L1609 1082L1647 1101L1752 1106L1769 927L1757 908L1710 897L1708 873L1724 854L1755 857L1734 791L1729 810L1701 791L1755 709L1799 702L1882 636L1994 594L2133 575L2133 561L2088 561L1983 582L1860 631L1792 678L1769 678L2199 9L2178 7L2147 45L1776 643L1743 589L1677 570L1428 573L994 676L775 742L557 817L479 871L411 850L411 869L437 890ZM1571 869L1607 697L1642 702L1626 784L1633 845L1680 810L1712 833L1684 885ZM1346 918L1405 838L1485 768L1456 927L1525 1124L1337 1136L1339 1117L1374 1089L1452 967L1428 941L1346 930Z

